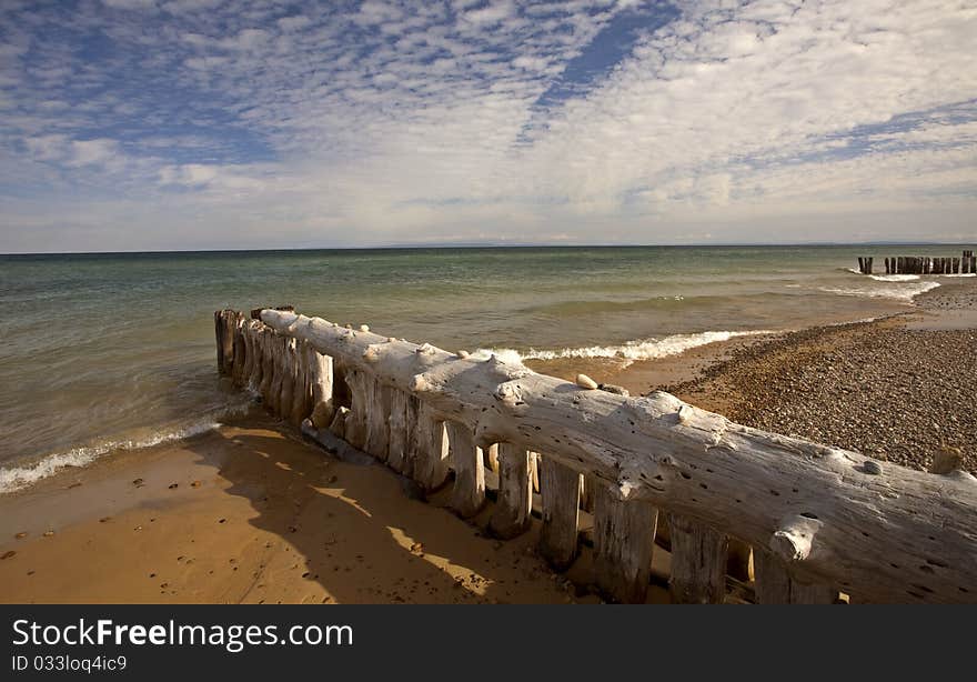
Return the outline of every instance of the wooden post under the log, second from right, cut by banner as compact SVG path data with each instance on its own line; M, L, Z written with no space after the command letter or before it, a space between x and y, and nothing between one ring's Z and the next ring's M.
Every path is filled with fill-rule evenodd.
M672 601L679 604L722 604L726 596L724 533L688 516L668 514L672 531Z

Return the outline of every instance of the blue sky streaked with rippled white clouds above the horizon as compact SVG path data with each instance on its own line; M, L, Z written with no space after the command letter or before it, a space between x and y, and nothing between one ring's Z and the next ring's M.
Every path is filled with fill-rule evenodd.
M0 252L977 241L977 0L0 0Z

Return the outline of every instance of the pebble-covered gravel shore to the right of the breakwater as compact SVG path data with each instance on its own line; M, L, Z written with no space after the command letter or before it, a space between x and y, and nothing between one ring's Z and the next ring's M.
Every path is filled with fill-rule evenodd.
M977 309L971 284L930 294L917 304ZM940 448L958 449L977 473L974 329L909 330L899 317L813 328L742 349L665 390L743 424L916 469Z

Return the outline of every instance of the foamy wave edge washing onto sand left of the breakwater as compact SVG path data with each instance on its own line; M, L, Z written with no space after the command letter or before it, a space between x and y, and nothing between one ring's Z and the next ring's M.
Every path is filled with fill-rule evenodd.
M234 413L241 408L232 408L224 414ZM110 440L95 445L72 448L66 452L54 452L44 455L39 461L23 465L0 468L0 494L21 490L41 479L47 479L68 468L80 468L91 464L93 461L119 450L141 450L162 443L170 443L182 439L205 433L221 427L221 422L212 417L201 419L183 427L158 431L142 439Z

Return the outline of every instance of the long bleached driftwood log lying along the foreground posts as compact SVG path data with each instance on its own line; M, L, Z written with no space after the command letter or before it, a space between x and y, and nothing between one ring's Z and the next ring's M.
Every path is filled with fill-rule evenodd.
M699 519L754 548L769 546L792 519L816 516L809 551L788 568L799 581L835 583L865 601L977 594L970 479L865 467L858 453L735 424L661 391L585 390L497 358L459 358L281 311L261 319L411 391L442 419L471 428L476 444L546 452L617 485L623 498Z

